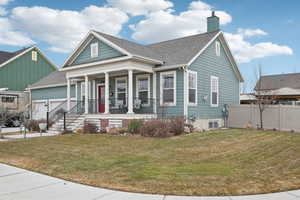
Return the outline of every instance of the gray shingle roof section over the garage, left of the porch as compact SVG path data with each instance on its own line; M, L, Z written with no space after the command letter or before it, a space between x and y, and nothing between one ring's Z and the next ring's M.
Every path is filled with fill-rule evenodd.
M67 84L66 72L54 71L48 76L40 79L38 82L29 86L29 88L43 87L48 85Z

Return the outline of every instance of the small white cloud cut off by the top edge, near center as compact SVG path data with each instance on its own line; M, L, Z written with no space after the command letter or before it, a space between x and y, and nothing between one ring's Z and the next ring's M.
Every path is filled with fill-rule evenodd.
M167 0L107 0L107 2L112 7L119 8L133 16L147 15L151 12L173 7L173 3Z

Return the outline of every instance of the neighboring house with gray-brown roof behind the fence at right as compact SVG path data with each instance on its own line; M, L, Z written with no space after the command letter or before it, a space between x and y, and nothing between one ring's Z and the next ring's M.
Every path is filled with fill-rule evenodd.
M256 95L272 98L274 103L300 104L300 73L262 76L254 88Z

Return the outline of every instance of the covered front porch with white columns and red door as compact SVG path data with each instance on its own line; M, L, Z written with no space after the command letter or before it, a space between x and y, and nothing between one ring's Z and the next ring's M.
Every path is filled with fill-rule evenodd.
M156 74L152 67L122 65L107 69L67 74L67 109L81 110L88 116L155 116ZM70 87L75 83L76 103L71 102ZM149 117L148 116L148 117ZM146 117L147 118L147 117Z

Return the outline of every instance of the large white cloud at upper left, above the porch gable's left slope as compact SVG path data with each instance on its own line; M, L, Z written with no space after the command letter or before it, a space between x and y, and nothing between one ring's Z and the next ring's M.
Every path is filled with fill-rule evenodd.
M89 6L81 11L17 7L10 15L14 27L39 41L47 42L50 50L64 53L74 49L89 30L116 35L127 20L124 12L106 6Z

